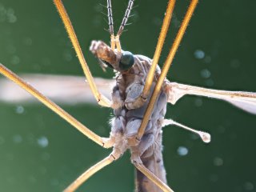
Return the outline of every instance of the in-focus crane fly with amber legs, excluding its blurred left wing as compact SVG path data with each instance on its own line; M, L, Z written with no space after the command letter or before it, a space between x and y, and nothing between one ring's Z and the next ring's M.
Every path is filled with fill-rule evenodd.
M112 90L111 100L98 91L97 84L90 74L90 70L83 57L76 34L70 19L61 0L54 0L66 30L73 43L74 49L78 54L82 70L86 75L90 90L100 106L114 109L114 118L111 123L111 132L109 138L102 138L94 134L86 126L78 122L70 114L62 110L50 99L42 95L33 86L30 86L18 75L1 64L0 72L6 78L9 78L24 90L30 92L35 98L38 98L43 104L72 126L77 128L82 134L96 142L104 148L113 147L112 153L86 170L73 183L66 188L66 191L74 191L83 182L86 182L90 176L101 170L104 166L118 160L126 150L131 152L131 162L137 170L136 190L138 191L173 191L166 184L166 171L162 159L162 126L175 125L198 134L203 142L210 142L210 134L203 131L193 130L181 123L174 122L172 119L166 119L166 103L175 104L179 98L186 94L218 98L230 102L242 110L251 114L256 114L256 94L242 91L210 90L197 86L187 86L177 82L169 82L166 74L174 59L174 54L182 41L183 34L194 13L197 0L192 0L186 12L185 18L178 34L174 39L174 44L170 48L170 53L162 66L158 67L158 59L162 51L163 42L170 25L171 16L174 10L174 0L170 0L166 9L166 15L163 20L162 30L159 35L158 44L153 59L139 54L132 54L129 51L122 50L120 37L126 26L130 15L130 10L134 4L130 0L126 9L126 14L122 20L117 34L114 34L114 23L112 18L111 1L107 1L110 46L102 41L93 41L90 50L98 58L102 68L110 67L116 71L115 85Z

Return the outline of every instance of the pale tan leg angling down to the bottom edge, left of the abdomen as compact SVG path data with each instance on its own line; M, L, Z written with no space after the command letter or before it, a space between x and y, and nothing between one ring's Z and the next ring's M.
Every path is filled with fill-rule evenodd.
M120 157L120 155L121 155L120 153L113 150L113 152L108 157L104 158L102 161L98 162L94 166L91 166L89 170L86 170L83 174L81 174L64 191L71 192L71 191L78 189L78 187L81 186L83 182L86 182L86 180L88 178L90 178L93 174L97 173L98 170L101 170L103 167L105 167L105 166L109 165L111 162L114 162L115 160L117 160Z

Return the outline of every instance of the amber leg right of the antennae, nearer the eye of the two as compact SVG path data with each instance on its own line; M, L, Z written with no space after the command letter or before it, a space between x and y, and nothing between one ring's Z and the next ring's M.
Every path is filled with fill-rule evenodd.
M154 73L158 66L158 60L159 60L160 54L162 52L162 46L163 46L163 43L165 42L166 34L167 34L167 31L170 26L170 19L172 17L173 11L174 11L174 5L175 5L175 0L169 0L168 6L166 8L165 18L162 22L162 30L159 34L158 44L154 51L153 62L150 67L150 71L146 76L146 82L145 82L145 86L142 91L142 94L140 95L140 97L136 98L136 101L134 102L134 106L138 106L138 107L142 106L146 102L146 99L148 98L148 96L150 94L150 88L152 86L152 82L154 79Z

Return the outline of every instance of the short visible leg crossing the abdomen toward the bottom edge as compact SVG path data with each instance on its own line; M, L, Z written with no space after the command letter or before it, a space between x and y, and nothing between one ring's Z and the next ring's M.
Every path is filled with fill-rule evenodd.
M134 160L136 159L136 160ZM154 182L155 185L157 185L161 190L164 192L174 192L174 190L171 190L169 186L166 185L166 183L162 182L158 177L156 177L150 170L146 168L142 164L142 161L139 157L136 157L133 159L134 166L142 172L142 174L145 174L147 178L149 178L152 182Z

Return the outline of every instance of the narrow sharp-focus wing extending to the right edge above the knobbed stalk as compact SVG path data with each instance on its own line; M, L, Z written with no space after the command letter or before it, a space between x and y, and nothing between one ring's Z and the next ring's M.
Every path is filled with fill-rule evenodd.
M230 102L242 110L256 114L256 93L243 91L211 90L198 86L188 86L177 82L168 82L166 89L169 93L168 102L175 104L186 94L218 98Z

